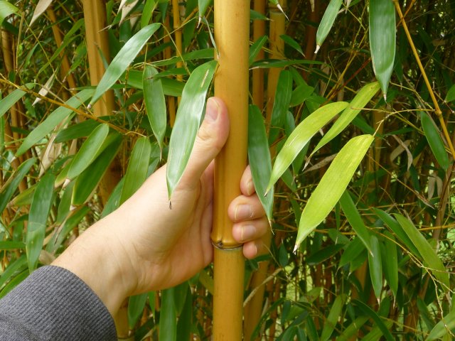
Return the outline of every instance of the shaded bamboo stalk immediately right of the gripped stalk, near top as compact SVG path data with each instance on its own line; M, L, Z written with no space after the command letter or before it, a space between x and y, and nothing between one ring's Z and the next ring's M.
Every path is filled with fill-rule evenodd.
M265 14L265 0L255 0L255 11ZM265 35L265 21L253 21L253 38L255 41ZM257 54L257 60L264 59L264 50ZM264 109L264 69L253 70L253 102L262 111ZM246 335L245 335L246 337ZM248 339L249 340L249 339Z

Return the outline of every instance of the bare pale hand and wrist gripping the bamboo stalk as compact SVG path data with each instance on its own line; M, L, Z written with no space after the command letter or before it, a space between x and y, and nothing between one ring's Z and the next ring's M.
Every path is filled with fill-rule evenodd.
M118 210L77 238L53 265L85 281L111 315L128 296L176 286L198 274L213 259L213 160L228 134L228 109L212 97L186 171L172 195L172 210L163 166ZM250 168L242 175L240 192L227 213L232 237L252 259L263 249L269 223Z

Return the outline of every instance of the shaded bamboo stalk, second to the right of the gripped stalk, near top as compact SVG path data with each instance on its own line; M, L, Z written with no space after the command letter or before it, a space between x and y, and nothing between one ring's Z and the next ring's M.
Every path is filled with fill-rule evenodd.
M286 11L287 1L282 1L282 9ZM277 9L276 6L269 7L270 15L270 58L271 59L283 59L284 55L284 40L279 38L286 32L286 16L284 13ZM282 72L282 68L272 67L269 69L269 75L267 80L267 117L266 123L270 124L272 119L272 109L275 100L275 92L277 91L279 73Z

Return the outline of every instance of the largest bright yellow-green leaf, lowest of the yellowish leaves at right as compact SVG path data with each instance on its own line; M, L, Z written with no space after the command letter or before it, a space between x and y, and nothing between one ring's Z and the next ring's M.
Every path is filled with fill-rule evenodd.
M373 140L371 135L356 136L333 159L301 214L294 251L335 207Z

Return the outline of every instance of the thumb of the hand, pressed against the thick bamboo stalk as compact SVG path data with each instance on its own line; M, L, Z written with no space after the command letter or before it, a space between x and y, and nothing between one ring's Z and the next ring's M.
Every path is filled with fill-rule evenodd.
M181 179L182 186L199 185L205 168L220 153L228 135L228 108L220 98L210 97L205 108L205 118L200 125L193 151Z

